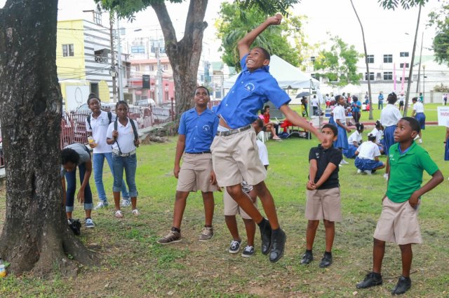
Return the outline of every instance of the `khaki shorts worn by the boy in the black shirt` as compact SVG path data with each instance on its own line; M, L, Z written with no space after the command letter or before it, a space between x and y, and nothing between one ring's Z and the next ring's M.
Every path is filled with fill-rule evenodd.
M308 220L342 220L340 187L328 190L307 190L306 218Z

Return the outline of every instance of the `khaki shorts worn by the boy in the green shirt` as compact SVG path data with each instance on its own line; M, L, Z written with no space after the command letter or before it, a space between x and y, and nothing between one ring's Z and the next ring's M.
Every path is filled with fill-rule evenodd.
M394 203L386 197L373 237L398 245L422 243L417 210L408 201Z

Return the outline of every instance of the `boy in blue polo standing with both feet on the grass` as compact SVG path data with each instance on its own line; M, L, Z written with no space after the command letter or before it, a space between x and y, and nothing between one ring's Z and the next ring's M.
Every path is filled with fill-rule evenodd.
M206 225L203 227L199 241L208 241L213 237L213 192L218 190L215 173L212 169L210 144L217 133L218 118L207 108L209 91L200 86L195 90L195 106L182 114L179 138L176 144L175 168L177 178L175 211L170 232L159 239L159 244L181 241L181 221L189 192L201 190L203 195ZM182 166L180 161L182 159Z

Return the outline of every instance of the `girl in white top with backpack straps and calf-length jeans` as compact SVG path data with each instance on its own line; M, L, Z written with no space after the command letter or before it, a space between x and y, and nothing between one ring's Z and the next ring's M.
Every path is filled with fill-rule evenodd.
M135 171L137 169L137 158L135 150L139 146L138 124L135 120L128 118L129 107L126 101L119 101L116 104L117 118L109 124L107 129L106 142L112 145L112 164L114 168L114 194L116 218L123 218L120 210L120 190L123 183L123 170L126 175L129 196L133 215L139 215L137 209L138 190L135 185Z

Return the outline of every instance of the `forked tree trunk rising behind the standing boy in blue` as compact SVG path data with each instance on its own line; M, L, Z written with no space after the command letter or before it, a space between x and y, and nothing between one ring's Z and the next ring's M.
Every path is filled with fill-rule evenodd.
M161 1L161 3L152 4L161 24L166 52L173 69L178 118L193 106L194 92L198 83L197 73L201 58L203 32L208 26L207 22L203 21L207 6L207 0L190 1L185 34L178 42L165 3Z

